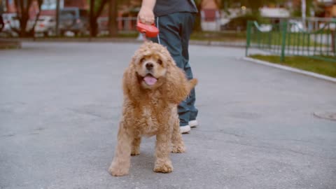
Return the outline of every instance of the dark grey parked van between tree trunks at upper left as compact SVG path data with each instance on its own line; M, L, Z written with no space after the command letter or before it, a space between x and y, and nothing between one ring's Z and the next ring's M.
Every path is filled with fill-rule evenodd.
M63 8L59 10L59 32L64 35L67 31L76 36L89 31L88 11L80 8Z

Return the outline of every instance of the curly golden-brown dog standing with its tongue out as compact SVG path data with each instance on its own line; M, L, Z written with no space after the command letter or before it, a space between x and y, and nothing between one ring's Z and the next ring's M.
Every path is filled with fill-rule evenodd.
M130 155L139 155L141 137L153 135L154 172L173 171L169 153L186 151L177 105L196 84L197 79L187 80L165 47L152 42L141 45L123 76L123 116L115 157L109 167L111 175L128 174Z

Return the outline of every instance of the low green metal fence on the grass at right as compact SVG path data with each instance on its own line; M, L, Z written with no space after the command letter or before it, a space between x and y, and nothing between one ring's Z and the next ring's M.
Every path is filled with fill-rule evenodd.
M336 21L321 22L318 29L309 29L300 22L283 20L277 24L259 25L249 21L246 34L246 56L250 48L279 55L304 56L336 62Z

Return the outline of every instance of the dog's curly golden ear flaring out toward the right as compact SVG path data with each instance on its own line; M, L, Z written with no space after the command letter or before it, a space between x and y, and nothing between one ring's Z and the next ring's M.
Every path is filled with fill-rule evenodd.
M169 61L171 62L167 66L166 94L170 102L179 104L188 97L190 90L197 84L197 79L188 80L186 73L176 66L174 60L171 58Z

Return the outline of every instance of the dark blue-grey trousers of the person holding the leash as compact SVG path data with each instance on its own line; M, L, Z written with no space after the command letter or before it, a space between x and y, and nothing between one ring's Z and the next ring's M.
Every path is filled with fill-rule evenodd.
M151 38L155 43L167 47L177 66L186 72L188 79L193 78L189 64L188 43L193 31L195 14L173 13L155 18L155 25L160 30L158 38ZM190 120L196 120L198 110L195 108L195 89L189 97L179 104L180 126L188 125Z

